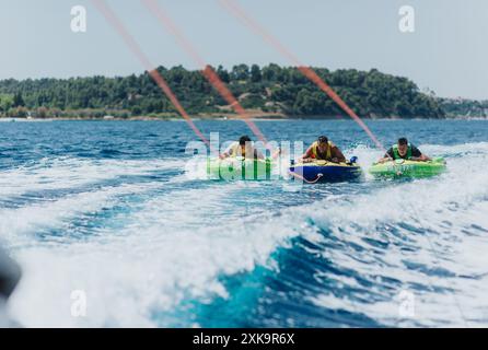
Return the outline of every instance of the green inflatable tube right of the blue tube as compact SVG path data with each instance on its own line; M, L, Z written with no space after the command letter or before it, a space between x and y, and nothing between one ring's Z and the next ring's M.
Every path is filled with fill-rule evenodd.
M443 158L428 162L396 160L386 163L375 163L370 167L370 174L376 178L422 178L442 174L445 171Z

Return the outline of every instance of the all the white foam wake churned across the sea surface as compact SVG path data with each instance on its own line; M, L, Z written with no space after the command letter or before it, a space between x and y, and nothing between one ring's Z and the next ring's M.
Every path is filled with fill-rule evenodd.
M345 247L324 249L323 256L367 278L379 278L372 292L381 295L383 302L358 304L324 291L313 299L317 305L398 324L402 319L397 294L418 283L454 288L454 292L419 293L416 322L439 325L439 319L446 319L449 325L464 325L466 319L483 319L488 305L486 278L466 280L463 276L483 276L488 262L483 254L488 248L486 234L473 230L473 225L488 228L487 175L480 166L486 164L488 144L421 148L431 155L446 156L449 172L432 179L384 183L369 194L329 197L312 206L280 209L278 217L259 218L239 215L242 207L231 200L241 199L243 192L258 184L216 183L201 188L182 184L177 190L131 208L125 226L117 232L107 229L106 234L86 241L24 246L15 250L24 279L12 301L12 313L26 326L171 326L172 320L160 314L171 313L185 300L209 302L216 295L225 296L220 283L222 275L248 272L258 265L272 266L272 252L287 247L291 237L302 234L326 243L326 237L315 232L319 226L339 237ZM363 148L352 151L364 163L381 155ZM13 232L9 241L15 246L19 237L36 228L63 228L82 212L114 207L120 196L147 192L152 185L130 186L80 194L44 203L45 207L3 211L4 219L31 219L0 228L2 232ZM310 226L309 219L315 225ZM398 223L408 224L414 231ZM385 233L388 225L399 234ZM375 253L367 237L385 242L387 249ZM352 244L363 250L355 250ZM405 250L406 246L415 249ZM422 269L406 267L405 261L427 270L443 268L452 277L428 275ZM397 279L402 285L383 290L382 278ZM357 283L353 278L342 282ZM85 317L71 315L74 290L86 294ZM193 319L181 322L190 325Z

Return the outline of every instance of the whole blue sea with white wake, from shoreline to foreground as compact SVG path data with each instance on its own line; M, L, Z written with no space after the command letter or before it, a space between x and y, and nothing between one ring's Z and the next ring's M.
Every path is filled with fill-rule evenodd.
M364 170L382 153L350 120L257 125L276 141L325 133ZM185 122L0 122L0 244L24 272L10 313L47 327L488 326L488 121L368 125L448 172L206 180Z

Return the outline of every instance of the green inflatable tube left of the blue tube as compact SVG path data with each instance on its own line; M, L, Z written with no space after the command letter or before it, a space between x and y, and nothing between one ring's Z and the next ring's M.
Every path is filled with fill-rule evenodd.
M247 160L242 156L207 159L207 174L210 179L223 180L266 180L271 179L272 162L266 160Z

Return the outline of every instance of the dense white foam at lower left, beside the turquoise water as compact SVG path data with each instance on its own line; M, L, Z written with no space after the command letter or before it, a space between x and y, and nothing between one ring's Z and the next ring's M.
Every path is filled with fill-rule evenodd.
M280 242L293 234L291 229L272 233L270 223L242 221L191 230L185 220L182 226L187 229L175 231L154 202L148 205L153 209L135 215L144 221L130 220L117 235L20 252L18 259L26 268L12 300L13 314L28 326L171 326L166 317L152 314L171 313L188 299L225 296L221 273L267 264ZM39 305L33 289L43 280L50 283L44 284ZM73 290L86 291L90 317L69 314Z

